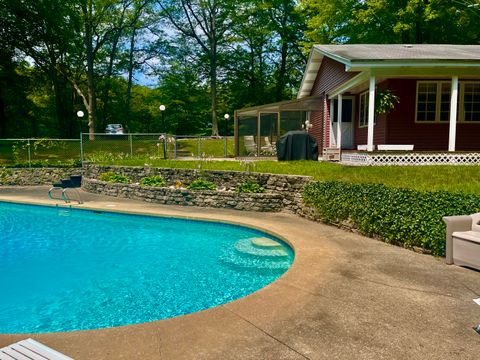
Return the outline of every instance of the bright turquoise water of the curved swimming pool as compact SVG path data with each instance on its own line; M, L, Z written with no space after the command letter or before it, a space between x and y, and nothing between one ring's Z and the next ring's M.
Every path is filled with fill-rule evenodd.
M192 313L281 276L291 249L222 223L0 202L0 333L98 329Z

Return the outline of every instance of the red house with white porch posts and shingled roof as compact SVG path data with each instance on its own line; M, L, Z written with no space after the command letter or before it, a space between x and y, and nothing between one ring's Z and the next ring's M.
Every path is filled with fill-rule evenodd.
M388 96L398 101L378 113L379 100ZM454 153L480 151L480 46L316 45L297 103L319 148L342 149L343 161L398 151L418 159L428 151L444 160L450 152L452 162ZM279 114L289 111L282 104ZM480 160L479 153L460 156ZM463 158L460 163L471 162Z

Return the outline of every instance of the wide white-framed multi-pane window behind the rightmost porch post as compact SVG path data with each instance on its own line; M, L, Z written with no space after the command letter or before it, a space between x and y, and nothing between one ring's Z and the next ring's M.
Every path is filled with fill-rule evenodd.
M416 122L449 122L451 82L417 82ZM458 121L480 121L480 82L459 84Z

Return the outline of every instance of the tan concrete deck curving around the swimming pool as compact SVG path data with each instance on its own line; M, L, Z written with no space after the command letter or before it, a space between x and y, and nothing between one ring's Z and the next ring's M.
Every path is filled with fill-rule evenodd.
M0 187L0 201L56 204L48 187ZM163 206L82 193L79 208L218 219L288 240L291 269L232 303L110 329L32 337L76 360L478 359L480 272L288 213ZM1 239L1 238L0 238ZM1 275L0 275L1 276ZM1 294L1 291L0 291Z

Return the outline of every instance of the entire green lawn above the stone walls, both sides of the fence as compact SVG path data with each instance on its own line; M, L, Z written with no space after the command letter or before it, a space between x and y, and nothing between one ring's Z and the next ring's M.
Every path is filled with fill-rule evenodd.
M0 141L0 166L26 163L28 151L24 142L16 142L17 155L12 152L14 142ZM79 142L52 143L46 147L32 147L33 161L66 162L78 160ZM136 136L132 143L128 136L103 136L89 141L84 138L84 158L105 165L173 167L205 170L245 171L239 161L182 161L163 160L163 146L157 137ZM228 155L233 156L233 139L228 141ZM133 151L134 157L130 156ZM169 154L174 153L173 143L168 143ZM211 157L224 156L223 139L178 139L177 151L181 155ZM248 162L249 169L256 172L312 176L316 180L342 180L352 183L381 183L387 186L416 190L446 190L452 192L480 194L480 166L372 166L349 167L333 163L314 161L254 161ZM242 165L243 164L243 165Z

